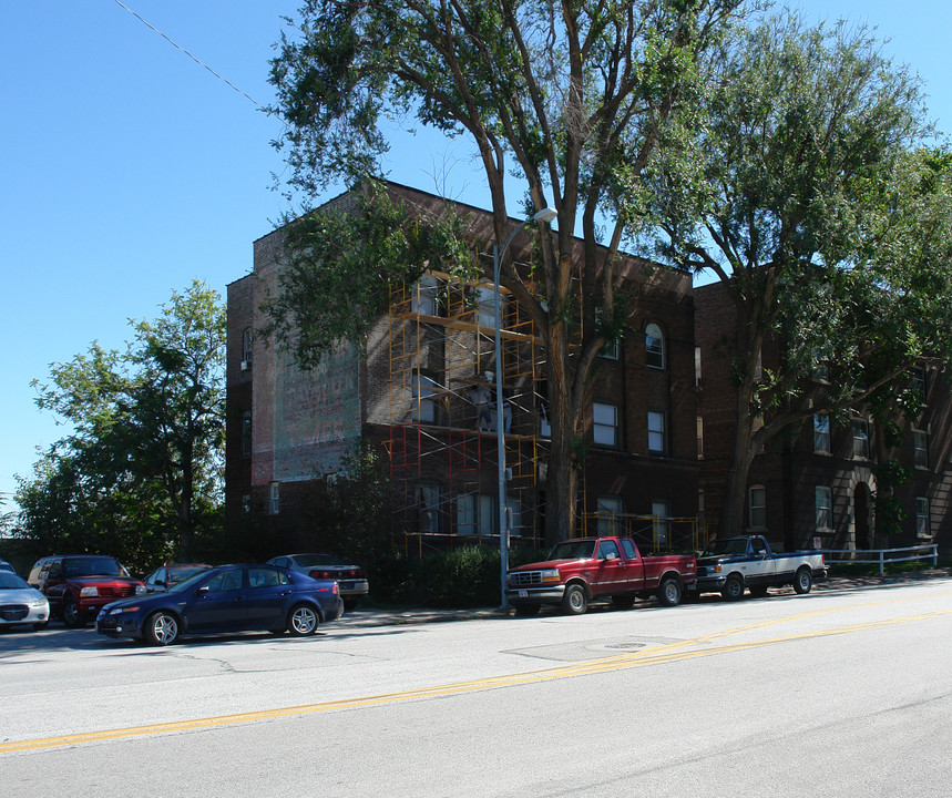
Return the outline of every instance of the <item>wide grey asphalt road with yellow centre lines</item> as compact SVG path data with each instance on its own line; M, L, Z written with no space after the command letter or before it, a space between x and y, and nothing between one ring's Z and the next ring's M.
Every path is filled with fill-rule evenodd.
M952 795L948 576L410 620L164 649L0 635L0 792Z

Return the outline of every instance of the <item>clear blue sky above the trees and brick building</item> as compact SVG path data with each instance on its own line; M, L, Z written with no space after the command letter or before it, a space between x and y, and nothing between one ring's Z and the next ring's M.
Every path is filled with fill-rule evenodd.
M297 0L123 0L254 99ZM925 81L952 130L946 0L798 0L868 22ZM0 498L68 430L33 378L93 340L117 348L193 278L224 295L287 202L272 190L278 122L115 0L0 0ZM461 141L395 137L393 180L484 205Z

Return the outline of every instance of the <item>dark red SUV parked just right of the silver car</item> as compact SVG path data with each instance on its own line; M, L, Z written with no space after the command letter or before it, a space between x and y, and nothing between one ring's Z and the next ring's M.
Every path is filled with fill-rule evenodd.
M145 593L119 560L95 554L43 557L27 581L47 596L50 615L66 626L84 626L104 604Z

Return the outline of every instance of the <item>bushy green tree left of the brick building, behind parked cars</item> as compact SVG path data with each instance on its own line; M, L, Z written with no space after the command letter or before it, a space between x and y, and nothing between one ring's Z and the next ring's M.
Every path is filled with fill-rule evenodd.
M73 427L21 479L27 536L130 562L188 559L196 533L218 525L223 464L225 313L194 282L154 320L133 325L123 352L94 342L37 405Z

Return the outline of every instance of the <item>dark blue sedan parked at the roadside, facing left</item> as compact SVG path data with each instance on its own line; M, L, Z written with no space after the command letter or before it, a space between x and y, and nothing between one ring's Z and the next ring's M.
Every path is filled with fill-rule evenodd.
M166 593L106 604L95 628L110 637L170 645L182 635L262 630L305 637L344 612L337 582L275 565L222 565Z

